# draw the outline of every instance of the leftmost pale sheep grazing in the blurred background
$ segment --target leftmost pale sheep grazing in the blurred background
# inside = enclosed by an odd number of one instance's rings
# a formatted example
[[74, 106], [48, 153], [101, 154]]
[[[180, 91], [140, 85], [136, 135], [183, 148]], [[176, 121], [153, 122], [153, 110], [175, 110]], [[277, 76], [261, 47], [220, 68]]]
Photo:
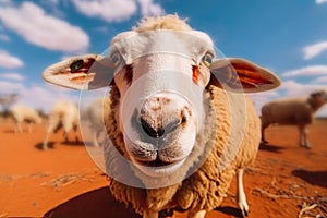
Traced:
[[28, 132], [32, 133], [32, 123], [41, 123], [41, 118], [36, 110], [28, 106], [16, 105], [11, 109], [11, 114], [16, 123], [15, 132], [22, 133], [22, 123], [28, 123]]

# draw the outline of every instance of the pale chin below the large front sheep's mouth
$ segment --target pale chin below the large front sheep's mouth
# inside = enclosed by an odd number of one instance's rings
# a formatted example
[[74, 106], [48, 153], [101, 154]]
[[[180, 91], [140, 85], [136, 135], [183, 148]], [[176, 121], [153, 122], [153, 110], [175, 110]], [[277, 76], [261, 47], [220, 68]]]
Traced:
[[186, 158], [162, 167], [147, 167], [133, 161], [133, 165], [144, 174], [152, 178], [164, 178], [175, 172], [184, 164]]

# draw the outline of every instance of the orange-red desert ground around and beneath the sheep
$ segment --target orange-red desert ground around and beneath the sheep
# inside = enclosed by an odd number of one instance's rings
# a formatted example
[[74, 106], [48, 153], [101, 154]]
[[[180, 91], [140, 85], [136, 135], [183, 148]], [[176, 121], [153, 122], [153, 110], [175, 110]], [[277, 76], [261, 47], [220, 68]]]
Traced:
[[[83, 142], [64, 143], [59, 132], [43, 150], [45, 130], [46, 122], [19, 134], [12, 121], [0, 121], [0, 218], [141, 217], [112, 198]], [[266, 137], [269, 143], [261, 145], [244, 175], [249, 217], [327, 217], [327, 120], [310, 126], [311, 149], [299, 146], [294, 126], [270, 126]], [[241, 217], [235, 181], [222, 205], [206, 217]]]

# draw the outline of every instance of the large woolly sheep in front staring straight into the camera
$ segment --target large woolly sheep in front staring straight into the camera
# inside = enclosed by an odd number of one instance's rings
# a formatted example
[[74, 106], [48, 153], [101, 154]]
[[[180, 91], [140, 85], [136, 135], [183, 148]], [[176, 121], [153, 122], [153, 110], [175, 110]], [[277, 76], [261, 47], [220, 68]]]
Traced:
[[203, 218], [221, 204], [237, 173], [238, 206], [247, 215], [243, 169], [255, 159], [261, 123], [243, 90], [279, 86], [272, 72], [218, 57], [207, 34], [166, 15], [118, 34], [108, 57], [73, 57], [43, 77], [69, 88], [110, 89], [98, 95], [110, 99], [104, 153], [118, 201], [145, 218], [165, 209]]

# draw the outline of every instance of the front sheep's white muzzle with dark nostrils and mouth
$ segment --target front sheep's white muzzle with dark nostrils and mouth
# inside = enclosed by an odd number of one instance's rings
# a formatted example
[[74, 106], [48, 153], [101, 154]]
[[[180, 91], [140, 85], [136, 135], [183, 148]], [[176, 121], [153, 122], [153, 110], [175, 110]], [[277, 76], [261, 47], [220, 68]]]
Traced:
[[185, 159], [194, 145], [196, 125], [192, 105], [182, 96], [159, 92], [136, 106], [125, 129], [133, 162], [169, 167]]

